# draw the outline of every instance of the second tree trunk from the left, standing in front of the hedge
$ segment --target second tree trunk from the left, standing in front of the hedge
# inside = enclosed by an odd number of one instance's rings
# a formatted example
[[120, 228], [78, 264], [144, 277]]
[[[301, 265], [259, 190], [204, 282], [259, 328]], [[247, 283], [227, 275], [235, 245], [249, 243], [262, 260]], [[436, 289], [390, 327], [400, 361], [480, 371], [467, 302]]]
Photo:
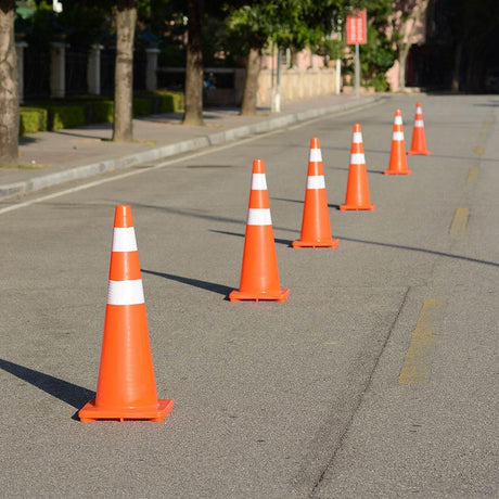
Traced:
[[133, 111], [133, 36], [137, 0], [119, 0], [116, 10], [116, 66], [113, 140], [131, 142]]

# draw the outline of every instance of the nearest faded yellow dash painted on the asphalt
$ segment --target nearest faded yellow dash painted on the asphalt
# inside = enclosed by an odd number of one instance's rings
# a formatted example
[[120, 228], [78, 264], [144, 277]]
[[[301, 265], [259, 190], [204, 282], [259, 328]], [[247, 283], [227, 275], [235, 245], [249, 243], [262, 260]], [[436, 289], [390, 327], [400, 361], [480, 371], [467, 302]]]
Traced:
[[435, 336], [447, 305], [445, 299], [425, 299], [412, 333], [398, 382], [427, 383], [432, 371]]

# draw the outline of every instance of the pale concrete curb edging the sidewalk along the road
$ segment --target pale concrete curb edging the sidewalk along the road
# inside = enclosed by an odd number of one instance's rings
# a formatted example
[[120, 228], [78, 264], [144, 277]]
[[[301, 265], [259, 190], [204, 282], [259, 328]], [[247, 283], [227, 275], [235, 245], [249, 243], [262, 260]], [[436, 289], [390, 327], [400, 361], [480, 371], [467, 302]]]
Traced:
[[42, 177], [37, 177], [23, 182], [15, 182], [0, 185], [0, 200], [7, 200], [28, 192], [39, 191], [60, 183], [69, 182], [72, 180], [93, 177], [106, 171], [130, 168], [146, 162], [154, 162], [169, 156], [175, 156], [189, 151], [195, 151], [210, 145], [222, 144], [235, 139], [242, 139], [256, 133], [265, 133], [278, 128], [284, 128], [295, 123], [306, 121], [327, 114], [334, 114], [342, 111], [354, 111], [366, 107], [382, 101], [383, 97], [364, 98], [361, 101], [349, 101], [343, 104], [335, 104], [328, 107], [316, 107], [299, 113], [277, 116], [253, 125], [245, 125], [238, 128], [232, 128], [225, 131], [212, 133], [209, 136], [197, 137], [195, 139], [184, 140], [161, 148], [154, 148], [149, 151], [142, 151], [136, 154], [129, 154], [123, 157], [104, 159], [98, 163], [92, 163], [85, 166], [69, 168], [67, 170], [57, 171]]

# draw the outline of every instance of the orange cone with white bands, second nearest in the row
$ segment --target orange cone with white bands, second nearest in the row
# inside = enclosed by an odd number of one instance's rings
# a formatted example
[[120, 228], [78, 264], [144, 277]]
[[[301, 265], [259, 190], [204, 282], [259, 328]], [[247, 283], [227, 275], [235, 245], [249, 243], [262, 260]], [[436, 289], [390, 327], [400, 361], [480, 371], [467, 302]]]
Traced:
[[239, 290], [229, 294], [229, 299], [231, 302], [243, 299], [284, 302], [289, 296], [290, 290], [281, 289], [279, 282], [278, 258], [264, 161], [255, 159], [253, 162], [241, 283]]

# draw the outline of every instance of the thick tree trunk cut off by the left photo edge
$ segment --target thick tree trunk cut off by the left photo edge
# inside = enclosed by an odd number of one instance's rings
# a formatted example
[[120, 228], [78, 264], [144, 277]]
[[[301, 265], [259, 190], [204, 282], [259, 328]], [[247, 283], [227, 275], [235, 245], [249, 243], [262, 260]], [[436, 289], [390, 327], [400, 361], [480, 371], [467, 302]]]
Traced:
[[0, 165], [17, 166], [20, 102], [14, 37], [15, 1], [0, 0]]

